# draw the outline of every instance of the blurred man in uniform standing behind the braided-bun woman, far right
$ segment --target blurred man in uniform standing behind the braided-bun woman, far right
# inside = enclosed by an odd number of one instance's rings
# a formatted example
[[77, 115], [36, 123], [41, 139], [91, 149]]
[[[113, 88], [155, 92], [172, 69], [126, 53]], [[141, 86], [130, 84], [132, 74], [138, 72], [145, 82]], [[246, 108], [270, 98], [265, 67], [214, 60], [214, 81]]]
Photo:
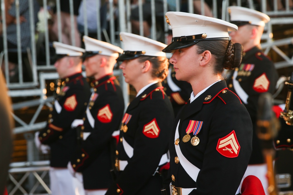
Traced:
[[227, 86], [236, 93], [245, 105], [253, 123], [252, 154], [244, 177], [255, 175], [268, 194], [267, 165], [260, 140], [256, 134], [258, 99], [260, 94], [273, 94], [278, 80], [277, 70], [273, 62], [263, 53], [260, 39], [265, 23], [270, 21], [268, 15], [253, 9], [230, 6], [230, 21], [238, 26], [238, 30], [230, 32], [231, 40], [243, 46], [243, 58], [239, 68], [227, 73]]

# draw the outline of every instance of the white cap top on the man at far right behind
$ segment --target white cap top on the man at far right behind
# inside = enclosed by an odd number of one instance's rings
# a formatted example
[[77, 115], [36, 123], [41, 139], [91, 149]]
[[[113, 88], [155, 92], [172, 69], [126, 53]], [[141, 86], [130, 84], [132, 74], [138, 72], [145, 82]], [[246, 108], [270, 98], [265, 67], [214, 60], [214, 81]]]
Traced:
[[248, 22], [251, 25], [265, 26], [270, 17], [262, 12], [240, 6], [229, 6], [230, 21]]

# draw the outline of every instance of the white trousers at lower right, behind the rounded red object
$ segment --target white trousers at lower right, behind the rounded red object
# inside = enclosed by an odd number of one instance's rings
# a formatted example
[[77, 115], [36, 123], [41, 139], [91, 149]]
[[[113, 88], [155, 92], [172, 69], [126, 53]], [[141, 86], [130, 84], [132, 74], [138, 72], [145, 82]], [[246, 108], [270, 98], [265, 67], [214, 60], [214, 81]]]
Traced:
[[257, 165], [248, 165], [246, 172], [244, 173], [244, 176], [242, 178], [242, 181], [240, 183], [240, 189], [242, 186], [242, 182], [244, 180], [245, 177], [247, 177], [248, 175], [254, 175], [255, 177], [258, 177], [258, 179], [260, 179], [261, 184], [263, 184], [263, 189], [265, 190], [265, 194], [269, 195], [268, 193], [268, 178], [267, 178], [267, 164], [257, 164]]

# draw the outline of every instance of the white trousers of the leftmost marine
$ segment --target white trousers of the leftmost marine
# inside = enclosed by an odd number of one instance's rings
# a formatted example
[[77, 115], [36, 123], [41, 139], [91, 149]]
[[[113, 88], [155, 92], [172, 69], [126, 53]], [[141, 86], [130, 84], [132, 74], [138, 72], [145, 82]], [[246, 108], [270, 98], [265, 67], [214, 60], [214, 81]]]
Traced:
[[85, 195], [84, 186], [71, 175], [67, 168], [50, 168], [52, 195]]

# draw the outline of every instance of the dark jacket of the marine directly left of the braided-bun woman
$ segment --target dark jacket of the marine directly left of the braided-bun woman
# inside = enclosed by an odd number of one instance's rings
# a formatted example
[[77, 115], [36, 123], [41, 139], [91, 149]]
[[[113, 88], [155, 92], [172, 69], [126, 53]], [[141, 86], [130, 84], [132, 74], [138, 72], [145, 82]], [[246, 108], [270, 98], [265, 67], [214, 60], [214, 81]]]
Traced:
[[[131, 115], [126, 124], [126, 132], [120, 131], [117, 145], [117, 159], [128, 161], [120, 171], [115, 183], [106, 195], [113, 194], [161, 194], [161, 176], [156, 173], [163, 154], [168, 151], [168, 139], [174, 116], [171, 102], [163, 92], [161, 83], [149, 86], [128, 106], [126, 113]], [[151, 128], [149, 124], [152, 124]], [[133, 148], [129, 158], [123, 141]]]

